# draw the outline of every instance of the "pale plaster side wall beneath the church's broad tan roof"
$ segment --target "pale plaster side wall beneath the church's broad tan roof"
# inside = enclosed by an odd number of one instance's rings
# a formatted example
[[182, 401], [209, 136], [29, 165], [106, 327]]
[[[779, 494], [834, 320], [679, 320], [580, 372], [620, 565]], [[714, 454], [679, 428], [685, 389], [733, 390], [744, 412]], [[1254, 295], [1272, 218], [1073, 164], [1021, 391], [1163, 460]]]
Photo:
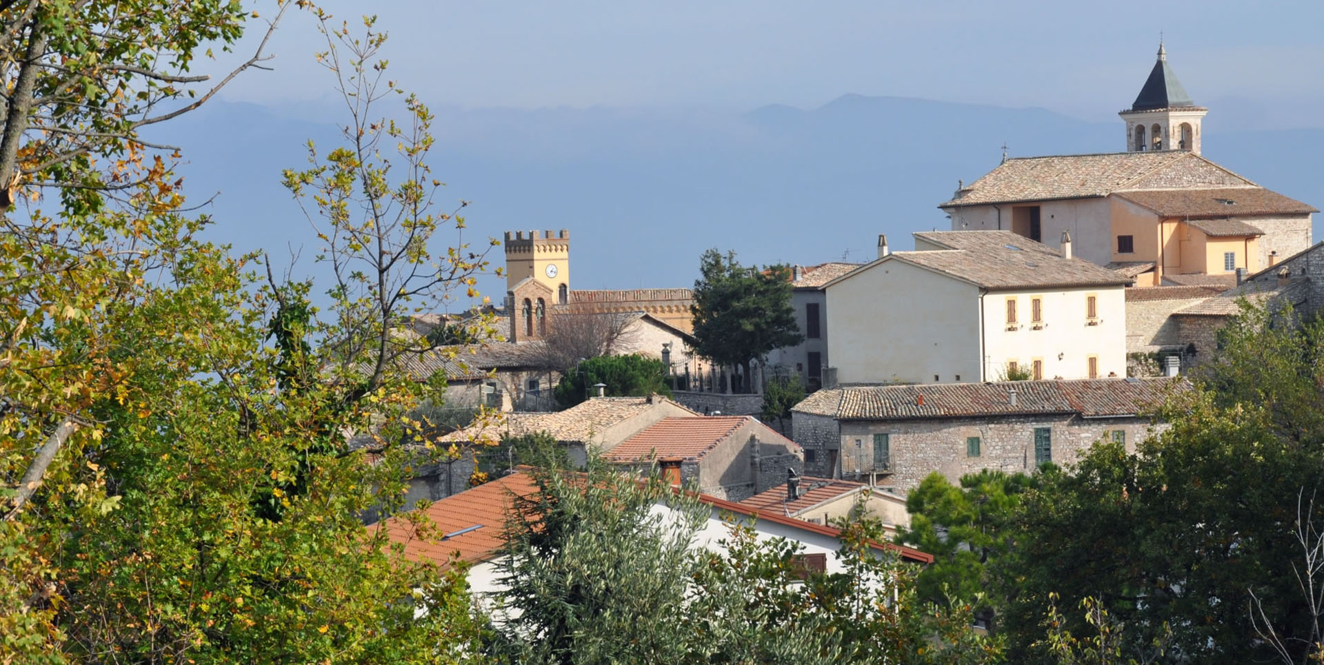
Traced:
[[1013, 225], [1013, 219], [1017, 218], [1017, 208], [1031, 205], [1039, 206], [1039, 242], [1049, 247], [1059, 247], [1062, 231], [1071, 231], [1074, 255], [1100, 266], [1112, 260], [1112, 215], [1107, 198], [970, 205], [948, 209], [948, 214], [952, 215], [953, 231], [1002, 229], [1026, 235], [1022, 229]]

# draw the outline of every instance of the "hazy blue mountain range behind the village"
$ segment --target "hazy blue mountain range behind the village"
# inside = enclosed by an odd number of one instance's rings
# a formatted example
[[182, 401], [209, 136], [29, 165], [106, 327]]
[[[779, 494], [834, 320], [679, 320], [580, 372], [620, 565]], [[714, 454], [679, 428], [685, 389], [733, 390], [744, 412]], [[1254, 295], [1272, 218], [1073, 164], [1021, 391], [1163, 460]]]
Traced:
[[[1250, 180], [1324, 204], [1324, 130], [1223, 130], [1205, 122], [1204, 153]], [[306, 140], [335, 145], [328, 104], [308, 112], [218, 102], [169, 124], [191, 200], [209, 231], [237, 250], [265, 247], [278, 263], [315, 235], [281, 171], [307, 164]], [[1090, 123], [1042, 108], [843, 95], [822, 107], [765, 106], [745, 114], [655, 108], [434, 108], [441, 201], [471, 201], [470, 239], [504, 230], [571, 229], [573, 287], [687, 287], [708, 247], [744, 262], [867, 260], [876, 234], [910, 249], [910, 233], [945, 229], [936, 208], [957, 180], [1012, 156], [1116, 152], [1120, 120]], [[1235, 124], [1253, 124], [1245, 114]], [[310, 118], [310, 119], [301, 119]], [[320, 118], [316, 120], [312, 118]], [[1316, 231], [1316, 238], [1320, 234]], [[450, 239], [442, 234], [441, 239]], [[493, 258], [500, 263], [500, 250]], [[499, 300], [500, 280], [481, 287]]]

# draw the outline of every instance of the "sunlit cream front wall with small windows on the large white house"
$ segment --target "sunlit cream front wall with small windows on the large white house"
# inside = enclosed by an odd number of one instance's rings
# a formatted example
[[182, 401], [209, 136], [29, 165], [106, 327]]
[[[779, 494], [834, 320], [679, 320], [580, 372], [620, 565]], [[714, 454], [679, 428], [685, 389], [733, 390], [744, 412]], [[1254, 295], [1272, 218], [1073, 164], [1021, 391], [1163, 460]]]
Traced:
[[[1087, 297], [1095, 296], [1096, 317], [1086, 316]], [[1017, 303], [1017, 323], [1008, 324], [1006, 303]], [[1042, 321], [1033, 321], [1033, 300], [1039, 299]], [[1059, 291], [990, 291], [984, 293], [984, 375], [1005, 378], [1008, 362], [1033, 370], [1038, 378], [1091, 378], [1090, 357], [1098, 358], [1096, 377], [1127, 375], [1127, 303], [1123, 287], [1083, 287]], [[1031, 377], [1037, 378], [1037, 377]], [[970, 379], [973, 381], [972, 375]]]

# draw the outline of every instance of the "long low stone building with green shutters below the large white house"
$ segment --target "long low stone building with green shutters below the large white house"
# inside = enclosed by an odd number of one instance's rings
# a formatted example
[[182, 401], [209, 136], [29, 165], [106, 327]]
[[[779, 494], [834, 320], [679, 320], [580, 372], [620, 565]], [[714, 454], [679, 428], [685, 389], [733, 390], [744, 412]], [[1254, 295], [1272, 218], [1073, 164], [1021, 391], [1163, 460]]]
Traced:
[[939, 472], [1029, 472], [1102, 439], [1135, 450], [1162, 424], [1147, 409], [1182, 379], [1016, 381], [820, 390], [792, 410], [806, 473], [904, 494]]

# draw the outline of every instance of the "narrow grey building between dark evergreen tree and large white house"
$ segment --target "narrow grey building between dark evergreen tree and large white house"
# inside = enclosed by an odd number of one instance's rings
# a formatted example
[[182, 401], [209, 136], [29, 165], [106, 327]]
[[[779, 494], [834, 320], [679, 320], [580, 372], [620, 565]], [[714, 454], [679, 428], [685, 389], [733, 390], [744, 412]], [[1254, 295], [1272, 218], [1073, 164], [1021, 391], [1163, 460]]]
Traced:
[[[879, 235], [879, 247], [887, 241]], [[859, 263], [820, 263], [790, 267], [790, 307], [796, 311], [796, 327], [804, 340], [794, 346], [773, 349], [768, 366], [785, 370], [804, 379], [809, 390], [822, 387], [822, 370], [830, 366], [828, 357], [828, 295], [824, 286], [858, 268]]]

